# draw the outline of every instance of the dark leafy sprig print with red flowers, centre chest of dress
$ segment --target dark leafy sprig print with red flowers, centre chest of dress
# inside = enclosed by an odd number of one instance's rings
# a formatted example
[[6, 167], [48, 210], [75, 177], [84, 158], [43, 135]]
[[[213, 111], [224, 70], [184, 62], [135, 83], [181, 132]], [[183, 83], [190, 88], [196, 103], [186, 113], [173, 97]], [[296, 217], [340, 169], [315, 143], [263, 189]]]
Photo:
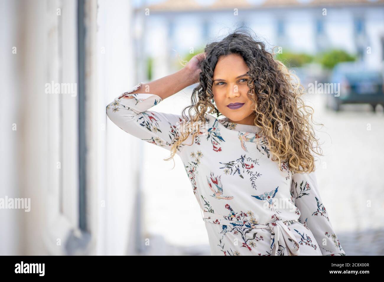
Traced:
[[224, 165], [224, 167], [220, 167], [220, 169], [224, 169], [225, 174], [237, 174], [241, 178], [244, 178], [242, 173], [247, 173], [247, 175], [250, 176], [252, 188], [256, 190], [256, 180], [258, 177], [262, 176], [261, 173], [253, 171], [255, 165], [259, 165], [258, 160], [253, 160], [250, 157], [246, 158], [245, 155], [242, 155], [237, 160], [233, 160], [228, 163], [220, 163]]

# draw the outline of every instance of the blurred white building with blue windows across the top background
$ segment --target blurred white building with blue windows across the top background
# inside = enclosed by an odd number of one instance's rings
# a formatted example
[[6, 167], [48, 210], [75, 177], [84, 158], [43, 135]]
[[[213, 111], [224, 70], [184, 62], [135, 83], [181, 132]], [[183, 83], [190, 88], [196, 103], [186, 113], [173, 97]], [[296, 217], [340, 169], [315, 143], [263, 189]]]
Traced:
[[252, 28], [269, 48], [310, 55], [343, 49], [379, 66], [384, 60], [383, 5], [382, 0], [157, 0], [137, 1], [135, 17], [146, 12], [138, 24], [145, 25], [144, 52], [154, 58], [157, 77], [164, 68], [175, 70], [177, 54], [201, 50], [238, 25]]

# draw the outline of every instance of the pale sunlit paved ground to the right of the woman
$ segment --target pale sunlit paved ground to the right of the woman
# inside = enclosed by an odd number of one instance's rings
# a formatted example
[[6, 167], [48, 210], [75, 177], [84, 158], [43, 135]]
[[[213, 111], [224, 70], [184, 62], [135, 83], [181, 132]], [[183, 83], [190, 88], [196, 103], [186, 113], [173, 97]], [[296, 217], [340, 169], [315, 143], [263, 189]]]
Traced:
[[[347, 255], [384, 255], [384, 115], [369, 105], [326, 110], [324, 95], [309, 95], [324, 157], [317, 167], [321, 196]], [[329, 135], [328, 135], [329, 134]]]

